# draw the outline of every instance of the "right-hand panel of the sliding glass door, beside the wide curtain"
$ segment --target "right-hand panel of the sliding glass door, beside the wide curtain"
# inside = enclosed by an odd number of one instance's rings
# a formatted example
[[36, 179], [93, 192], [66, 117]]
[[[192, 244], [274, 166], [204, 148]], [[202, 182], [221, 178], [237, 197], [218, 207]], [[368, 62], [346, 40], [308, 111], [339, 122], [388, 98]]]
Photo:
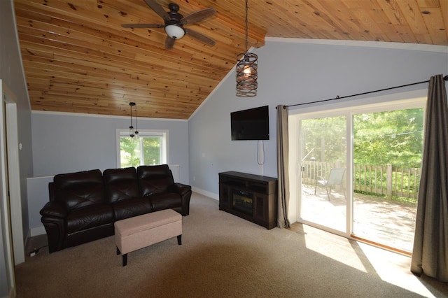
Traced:
[[411, 251], [423, 108], [353, 115], [353, 236]]

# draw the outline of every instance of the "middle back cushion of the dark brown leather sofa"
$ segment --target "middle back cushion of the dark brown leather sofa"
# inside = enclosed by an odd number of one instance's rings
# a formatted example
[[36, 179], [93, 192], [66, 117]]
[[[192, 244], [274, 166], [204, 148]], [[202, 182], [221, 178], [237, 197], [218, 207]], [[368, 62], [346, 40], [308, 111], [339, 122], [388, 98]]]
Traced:
[[134, 167], [104, 170], [103, 178], [108, 203], [139, 197], [139, 181]]

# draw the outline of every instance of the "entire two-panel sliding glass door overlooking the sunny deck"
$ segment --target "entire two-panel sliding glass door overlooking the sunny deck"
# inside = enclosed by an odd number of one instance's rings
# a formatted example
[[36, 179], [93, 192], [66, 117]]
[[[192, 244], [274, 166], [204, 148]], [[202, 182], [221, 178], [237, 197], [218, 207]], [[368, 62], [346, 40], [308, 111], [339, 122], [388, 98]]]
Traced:
[[410, 252], [423, 104], [297, 115], [298, 221]]

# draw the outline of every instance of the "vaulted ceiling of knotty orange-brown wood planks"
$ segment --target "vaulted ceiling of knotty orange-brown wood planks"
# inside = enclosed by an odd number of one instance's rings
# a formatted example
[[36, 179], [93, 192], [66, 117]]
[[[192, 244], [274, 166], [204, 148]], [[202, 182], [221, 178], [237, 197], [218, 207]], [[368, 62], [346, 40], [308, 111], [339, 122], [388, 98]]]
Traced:
[[[175, 0], [216, 17], [165, 49], [163, 23], [144, 0], [14, 0], [33, 111], [188, 119], [245, 52], [244, 0]], [[158, 0], [168, 9], [170, 0]], [[448, 0], [249, 0], [248, 46], [265, 36], [448, 45]]]

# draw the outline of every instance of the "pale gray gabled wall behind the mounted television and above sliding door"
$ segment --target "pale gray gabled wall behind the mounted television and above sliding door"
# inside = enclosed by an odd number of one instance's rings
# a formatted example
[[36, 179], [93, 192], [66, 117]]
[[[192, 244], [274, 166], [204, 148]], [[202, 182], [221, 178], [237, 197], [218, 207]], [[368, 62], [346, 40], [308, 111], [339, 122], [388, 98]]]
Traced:
[[[429, 80], [430, 76], [439, 73], [448, 74], [448, 47], [435, 47], [437, 50], [443, 48], [444, 52], [433, 52], [353, 44], [356, 46], [297, 43], [274, 38], [269, 41], [268, 38], [265, 46], [255, 51], [258, 55], [258, 94], [253, 98], [235, 96], [235, 70], [232, 70], [188, 122], [190, 183], [195, 190], [217, 198], [218, 173], [221, 171], [277, 176], [275, 107], [278, 104], [332, 99], [337, 95], [342, 97]], [[382, 94], [425, 87], [427, 84]], [[373, 96], [378, 95], [381, 93]], [[365, 103], [368, 103], [367, 99]], [[230, 140], [230, 112], [264, 105], [269, 105], [270, 139], [264, 141], [265, 164], [260, 166], [257, 162], [258, 141]], [[300, 107], [290, 108], [290, 111], [297, 113], [295, 110], [298, 109]]]

